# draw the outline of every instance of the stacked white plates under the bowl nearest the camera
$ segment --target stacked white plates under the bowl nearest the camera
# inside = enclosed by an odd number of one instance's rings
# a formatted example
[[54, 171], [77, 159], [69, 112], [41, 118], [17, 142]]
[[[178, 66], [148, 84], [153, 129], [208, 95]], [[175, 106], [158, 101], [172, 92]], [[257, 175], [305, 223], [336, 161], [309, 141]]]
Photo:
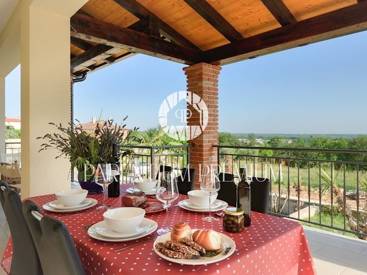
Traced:
[[94, 239], [105, 242], [127, 242], [143, 238], [153, 233], [158, 227], [158, 224], [151, 220], [144, 218], [141, 224], [133, 230], [125, 233], [113, 231], [105, 221], [100, 221], [92, 225], [88, 229], [88, 235]]

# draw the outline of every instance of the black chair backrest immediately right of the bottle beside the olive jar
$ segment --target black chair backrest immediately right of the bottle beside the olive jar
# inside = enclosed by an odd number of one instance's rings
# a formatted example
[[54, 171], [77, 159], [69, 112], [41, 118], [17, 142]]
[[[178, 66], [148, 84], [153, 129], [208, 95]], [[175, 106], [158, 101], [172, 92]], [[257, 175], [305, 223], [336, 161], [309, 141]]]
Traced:
[[251, 183], [251, 210], [268, 213], [271, 182], [269, 179], [252, 177]]

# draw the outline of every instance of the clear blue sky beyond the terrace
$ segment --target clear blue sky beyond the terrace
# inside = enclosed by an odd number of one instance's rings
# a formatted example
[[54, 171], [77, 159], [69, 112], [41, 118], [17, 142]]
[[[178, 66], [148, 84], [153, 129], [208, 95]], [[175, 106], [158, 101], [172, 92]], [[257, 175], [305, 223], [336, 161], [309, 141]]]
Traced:
[[[219, 131], [366, 134], [367, 32], [223, 66]], [[186, 90], [186, 65], [135, 55], [74, 85], [74, 117], [158, 125], [158, 110]], [[20, 117], [20, 69], [6, 78], [6, 116]], [[68, 91], [66, 91], [68, 92]], [[55, 121], [57, 122], [57, 121]]]

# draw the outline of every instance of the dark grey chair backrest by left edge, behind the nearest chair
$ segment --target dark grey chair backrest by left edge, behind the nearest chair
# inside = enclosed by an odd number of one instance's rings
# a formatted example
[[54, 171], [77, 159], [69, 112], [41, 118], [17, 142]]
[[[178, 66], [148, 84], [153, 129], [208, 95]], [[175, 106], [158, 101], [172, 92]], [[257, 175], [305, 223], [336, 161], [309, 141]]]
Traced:
[[[5, 187], [3, 183], [1, 185]], [[10, 275], [43, 274], [32, 235], [23, 216], [22, 202], [18, 193], [10, 188], [4, 190], [1, 188], [0, 193], [4, 197], [3, 208], [13, 246]]]

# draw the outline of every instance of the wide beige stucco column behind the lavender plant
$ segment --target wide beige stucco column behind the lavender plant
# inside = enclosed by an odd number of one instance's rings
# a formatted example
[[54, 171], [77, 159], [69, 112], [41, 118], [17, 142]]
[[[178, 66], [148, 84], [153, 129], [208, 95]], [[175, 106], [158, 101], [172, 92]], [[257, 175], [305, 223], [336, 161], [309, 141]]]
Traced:
[[21, 10], [22, 198], [70, 188], [70, 162], [39, 153], [37, 137], [70, 121], [70, 17], [86, 2], [33, 0]]

